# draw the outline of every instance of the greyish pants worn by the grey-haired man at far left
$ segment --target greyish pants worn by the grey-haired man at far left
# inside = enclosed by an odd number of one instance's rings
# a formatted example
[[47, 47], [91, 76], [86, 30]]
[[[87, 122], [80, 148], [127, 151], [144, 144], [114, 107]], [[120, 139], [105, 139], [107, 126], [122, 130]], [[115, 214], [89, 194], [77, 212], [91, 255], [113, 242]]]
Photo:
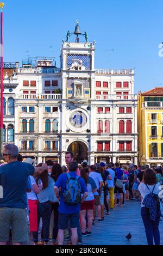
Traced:
[[0, 242], [9, 240], [12, 230], [12, 242], [21, 243], [27, 237], [27, 210], [17, 208], [0, 208]]

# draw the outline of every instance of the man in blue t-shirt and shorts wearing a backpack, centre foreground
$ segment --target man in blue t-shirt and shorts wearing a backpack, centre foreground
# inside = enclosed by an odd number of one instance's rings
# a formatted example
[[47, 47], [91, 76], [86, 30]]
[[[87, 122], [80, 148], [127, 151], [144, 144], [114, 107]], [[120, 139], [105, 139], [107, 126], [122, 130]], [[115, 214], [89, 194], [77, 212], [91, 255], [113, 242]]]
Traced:
[[[68, 165], [68, 170], [72, 178], [77, 177], [77, 169], [78, 164], [76, 162], [71, 162]], [[68, 228], [68, 220], [70, 220], [71, 225], [71, 241], [72, 245], [76, 245], [78, 241], [78, 233], [77, 233], [77, 226], [79, 222], [79, 212], [80, 212], [80, 204], [76, 205], [70, 205], [64, 202], [64, 190], [67, 182], [67, 174], [63, 173], [59, 176], [57, 182], [55, 183], [54, 191], [58, 198], [58, 201], [60, 203], [59, 205], [59, 231], [58, 231], [58, 244], [62, 245], [64, 241], [64, 229]], [[81, 192], [83, 193], [83, 197], [80, 203], [83, 203], [85, 198], [87, 197], [87, 188], [84, 179], [79, 178], [78, 179], [81, 186]], [[59, 188], [61, 188], [61, 191], [59, 193]]]

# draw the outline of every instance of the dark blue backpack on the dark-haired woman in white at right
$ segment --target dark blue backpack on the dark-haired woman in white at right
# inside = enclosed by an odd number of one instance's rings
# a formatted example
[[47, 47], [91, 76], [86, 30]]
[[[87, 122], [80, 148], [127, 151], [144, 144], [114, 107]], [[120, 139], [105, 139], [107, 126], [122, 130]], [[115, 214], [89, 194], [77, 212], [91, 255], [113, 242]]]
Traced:
[[[154, 188], [155, 188], [155, 185], [154, 185]], [[147, 186], [147, 184], [146, 184], [146, 186]], [[147, 186], [147, 188], [149, 190], [148, 186]], [[149, 209], [149, 215], [150, 215], [150, 219], [152, 221], [155, 221], [157, 211], [160, 210], [159, 196], [158, 196], [158, 194], [153, 193], [154, 188], [153, 188], [152, 192], [149, 190], [150, 193], [147, 194], [145, 196], [145, 198], [143, 199], [143, 205], [145, 205], [145, 207]]]

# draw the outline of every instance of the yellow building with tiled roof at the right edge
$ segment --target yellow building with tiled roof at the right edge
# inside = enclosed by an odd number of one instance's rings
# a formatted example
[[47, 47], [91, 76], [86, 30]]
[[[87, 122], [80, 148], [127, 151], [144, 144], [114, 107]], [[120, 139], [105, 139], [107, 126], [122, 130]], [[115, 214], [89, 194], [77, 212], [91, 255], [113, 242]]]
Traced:
[[163, 88], [138, 95], [139, 163], [163, 165]]

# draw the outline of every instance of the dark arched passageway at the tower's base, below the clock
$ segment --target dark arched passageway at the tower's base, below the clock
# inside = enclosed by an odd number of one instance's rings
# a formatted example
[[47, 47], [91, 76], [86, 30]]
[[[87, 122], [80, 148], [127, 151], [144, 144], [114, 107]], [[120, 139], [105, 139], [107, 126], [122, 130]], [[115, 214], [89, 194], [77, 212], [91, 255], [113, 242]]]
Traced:
[[72, 142], [68, 147], [68, 151], [74, 154], [74, 160], [78, 163], [82, 163], [83, 160], [88, 161], [88, 148], [84, 142]]

